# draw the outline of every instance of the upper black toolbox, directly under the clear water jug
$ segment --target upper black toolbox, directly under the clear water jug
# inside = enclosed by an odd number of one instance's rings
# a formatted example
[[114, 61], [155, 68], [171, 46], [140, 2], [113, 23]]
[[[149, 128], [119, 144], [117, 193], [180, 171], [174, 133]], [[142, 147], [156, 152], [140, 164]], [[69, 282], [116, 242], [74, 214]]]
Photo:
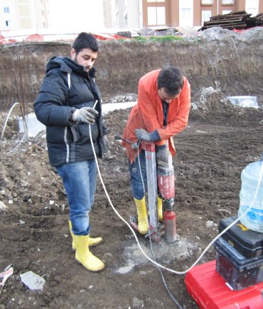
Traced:
[[[237, 216], [221, 219], [218, 225], [219, 232], [225, 230], [235, 220]], [[263, 233], [249, 230], [240, 221], [222, 234], [222, 238], [248, 259], [263, 255]]]

